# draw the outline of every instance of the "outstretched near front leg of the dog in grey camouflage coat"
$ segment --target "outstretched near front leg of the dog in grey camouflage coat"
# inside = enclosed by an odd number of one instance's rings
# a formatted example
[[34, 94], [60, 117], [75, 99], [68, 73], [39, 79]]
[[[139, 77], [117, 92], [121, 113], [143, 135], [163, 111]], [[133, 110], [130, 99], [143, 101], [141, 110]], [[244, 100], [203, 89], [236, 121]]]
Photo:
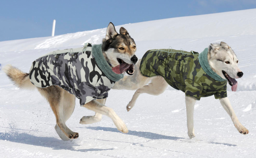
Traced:
[[101, 113], [112, 119], [117, 129], [123, 133], [128, 133], [128, 129], [123, 120], [116, 114], [116, 112], [109, 107], [106, 107], [102, 103], [97, 102], [96, 100], [90, 101], [83, 105], [83, 107], [88, 108], [89, 110]]

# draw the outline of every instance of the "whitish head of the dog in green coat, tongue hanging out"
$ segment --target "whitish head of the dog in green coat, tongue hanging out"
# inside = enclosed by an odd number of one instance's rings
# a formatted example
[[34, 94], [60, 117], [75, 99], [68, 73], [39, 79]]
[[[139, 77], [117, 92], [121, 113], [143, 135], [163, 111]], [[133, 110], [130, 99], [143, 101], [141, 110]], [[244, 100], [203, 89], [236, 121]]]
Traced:
[[242, 77], [243, 72], [238, 67], [238, 59], [231, 47], [225, 42], [211, 44], [208, 49], [208, 62], [212, 70], [227, 79], [232, 86], [232, 91], [236, 91], [237, 81], [235, 78]]

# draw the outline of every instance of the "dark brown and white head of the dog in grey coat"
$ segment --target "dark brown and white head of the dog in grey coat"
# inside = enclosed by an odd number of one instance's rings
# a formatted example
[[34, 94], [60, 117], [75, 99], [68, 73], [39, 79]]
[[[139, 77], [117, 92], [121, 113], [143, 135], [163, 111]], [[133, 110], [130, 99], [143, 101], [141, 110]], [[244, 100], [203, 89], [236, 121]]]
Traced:
[[107, 27], [106, 37], [102, 40], [102, 52], [115, 73], [133, 75], [134, 64], [138, 61], [135, 56], [136, 44], [127, 30], [120, 28], [120, 34], [110, 22]]

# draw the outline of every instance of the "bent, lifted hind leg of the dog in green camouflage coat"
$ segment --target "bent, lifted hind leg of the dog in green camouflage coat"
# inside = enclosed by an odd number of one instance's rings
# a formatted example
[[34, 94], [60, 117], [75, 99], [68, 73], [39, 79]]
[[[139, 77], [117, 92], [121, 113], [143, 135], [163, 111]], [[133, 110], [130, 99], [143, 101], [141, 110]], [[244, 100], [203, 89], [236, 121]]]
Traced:
[[147, 93], [150, 95], [160, 95], [165, 91], [166, 87], [168, 86], [168, 83], [164, 80], [162, 76], [155, 76], [151, 78], [151, 83], [135, 91], [131, 101], [126, 106], [127, 111], [130, 111], [131, 108], [134, 107], [135, 102], [140, 94]]

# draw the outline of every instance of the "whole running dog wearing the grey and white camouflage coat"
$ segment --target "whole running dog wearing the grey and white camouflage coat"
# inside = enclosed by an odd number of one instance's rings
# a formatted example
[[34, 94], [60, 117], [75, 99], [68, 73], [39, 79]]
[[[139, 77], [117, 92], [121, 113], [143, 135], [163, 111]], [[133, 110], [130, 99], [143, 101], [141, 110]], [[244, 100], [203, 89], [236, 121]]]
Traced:
[[[30, 73], [11, 65], [4, 71], [18, 87], [37, 87], [48, 100], [56, 117], [55, 130], [61, 139], [79, 136], [65, 124], [73, 113], [75, 97], [80, 99], [81, 106], [110, 117], [119, 131], [127, 133], [125, 123], [104, 104], [108, 91], [123, 78], [123, 73], [134, 73], [134, 64], [138, 61], [135, 51], [135, 42], [126, 29], [121, 27], [118, 34], [109, 23], [101, 45], [86, 43], [82, 48], [50, 52], [33, 62]], [[80, 123], [84, 120], [86, 117]]]

